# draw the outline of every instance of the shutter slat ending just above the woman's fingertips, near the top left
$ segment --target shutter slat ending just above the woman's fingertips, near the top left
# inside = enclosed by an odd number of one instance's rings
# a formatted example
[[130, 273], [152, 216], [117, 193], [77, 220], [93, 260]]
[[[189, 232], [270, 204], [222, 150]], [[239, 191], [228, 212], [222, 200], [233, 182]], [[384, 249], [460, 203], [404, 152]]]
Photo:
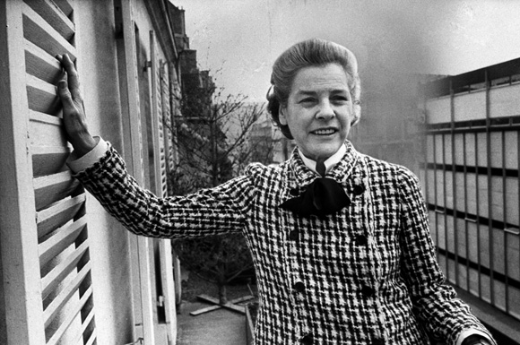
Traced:
[[23, 36], [48, 55], [67, 53], [74, 61], [76, 49], [64, 39], [52, 26], [45, 22], [28, 4], [23, 5]]

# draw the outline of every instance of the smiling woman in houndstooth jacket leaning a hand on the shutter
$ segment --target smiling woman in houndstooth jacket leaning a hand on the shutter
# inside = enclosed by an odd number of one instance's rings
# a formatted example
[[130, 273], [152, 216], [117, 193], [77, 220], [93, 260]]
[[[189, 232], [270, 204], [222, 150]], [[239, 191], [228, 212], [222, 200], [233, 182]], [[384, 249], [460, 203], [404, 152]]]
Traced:
[[360, 78], [345, 47], [310, 39], [273, 65], [268, 109], [298, 145], [290, 160], [165, 199], [91, 137], [74, 65], [57, 57], [70, 167], [111, 214], [150, 237], [244, 234], [261, 298], [256, 344], [495, 343], [445, 285], [417, 178], [346, 140], [360, 119]]

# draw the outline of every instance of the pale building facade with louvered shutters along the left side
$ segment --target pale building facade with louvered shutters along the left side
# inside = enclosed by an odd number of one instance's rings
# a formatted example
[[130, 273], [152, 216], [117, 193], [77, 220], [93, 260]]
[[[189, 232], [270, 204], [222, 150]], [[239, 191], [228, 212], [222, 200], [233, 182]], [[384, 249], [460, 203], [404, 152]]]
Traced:
[[167, 195], [183, 25], [168, 0], [0, 2], [0, 343], [176, 342], [170, 243], [123, 229], [66, 168], [54, 56], [77, 66], [91, 133]]

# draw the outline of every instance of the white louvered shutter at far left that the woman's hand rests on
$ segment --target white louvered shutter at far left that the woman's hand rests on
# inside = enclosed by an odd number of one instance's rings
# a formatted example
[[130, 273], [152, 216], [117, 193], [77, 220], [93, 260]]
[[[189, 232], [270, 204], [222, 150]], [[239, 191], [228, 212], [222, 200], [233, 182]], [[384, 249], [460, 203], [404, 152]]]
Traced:
[[2, 129], [1, 158], [3, 164], [13, 162], [2, 170], [3, 177], [13, 178], [13, 189], [1, 199], [2, 253], [13, 263], [4, 272], [13, 284], [13, 290], [4, 290], [10, 297], [7, 337], [9, 343], [30, 345], [92, 344], [96, 327], [85, 194], [65, 166], [71, 148], [55, 87], [61, 67], [54, 56], [78, 56], [74, 2], [25, 0], [2, 6], [7, 26], [0, 44], [8, 52], [2, 56], [7, 85], [0, 104], [3, 126], [9, 125]]

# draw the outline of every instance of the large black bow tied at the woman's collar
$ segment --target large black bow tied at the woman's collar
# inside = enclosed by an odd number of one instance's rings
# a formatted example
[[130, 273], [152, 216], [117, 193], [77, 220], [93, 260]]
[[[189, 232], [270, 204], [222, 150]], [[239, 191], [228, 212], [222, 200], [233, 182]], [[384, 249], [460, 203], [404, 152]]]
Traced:
[[351, 203], [342, 185], [332, 178], [318, 177], [307, 186], [305, 192], [282, 203], [280, 207], [300, 216], [311, 214], [325, 216], [340, 211]]

